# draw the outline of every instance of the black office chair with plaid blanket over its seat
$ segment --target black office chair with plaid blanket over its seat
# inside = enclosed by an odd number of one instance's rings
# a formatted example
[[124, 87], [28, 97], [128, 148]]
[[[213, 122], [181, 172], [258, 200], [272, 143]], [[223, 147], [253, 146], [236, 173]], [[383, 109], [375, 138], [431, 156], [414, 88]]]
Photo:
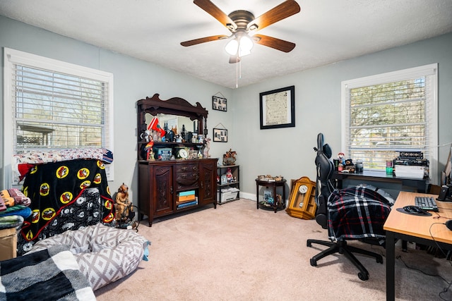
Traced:
[[[322, 228], [328, 229], [331, 241], [307, 240], [308, 247], [313, 243], [328, 247], [312, 257], [310, 264], [316, 266], [319, 259], [331, 254], [344, 254], [359, 270], [359, 279], [365, 281], [369, 279], [369, 272], [353, 253], [374, 257], [376, 262], [381, 264], [383, 257], [381, 254], [347, 245], [347, 240], [359, 239], [374, 245], [383, 245], [385, 235], [383, 223], [391, 211], [391, 203], [378, 192], [365, 187], [335, 190], [331, 183], [334, 172], [334, 165], [330, 160], [331, 148], [328, 144], [323, 144], [322, 133], [317, 136], [317, 147], [314, 147], [314, 150], [317, 152], [316, 221]], [[346, 206], [344, 202], [347, 202]], [[358, 227], [350, 226], [352, 223], [344, 225], [350, 219], [355, 223], [363, 222]]]

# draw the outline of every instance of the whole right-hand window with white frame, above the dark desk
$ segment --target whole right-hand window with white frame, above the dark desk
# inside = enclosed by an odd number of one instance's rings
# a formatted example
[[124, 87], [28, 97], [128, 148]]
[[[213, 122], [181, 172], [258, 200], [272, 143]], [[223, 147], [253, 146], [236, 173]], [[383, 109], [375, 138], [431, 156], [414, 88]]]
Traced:
[[400, 151], [421, 151], [437, 183], [436, 91], [436, 63], [342, 82], [342, 149], [376, 171]]

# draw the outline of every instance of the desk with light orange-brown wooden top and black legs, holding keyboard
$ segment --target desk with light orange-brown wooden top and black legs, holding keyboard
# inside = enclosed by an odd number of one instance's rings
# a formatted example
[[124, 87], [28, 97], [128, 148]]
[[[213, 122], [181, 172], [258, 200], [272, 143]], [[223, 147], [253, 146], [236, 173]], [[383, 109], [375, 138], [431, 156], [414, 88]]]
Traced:
[[438, 216], [435, 212], [432, 212], [431, 216], [418, 216], [397, 211], [398, 208], [415, 204], [415, 197], [418, 195], [436, 197], [436, 195], [424, 193], [400, 192], [383, 226], [386, 231], [386, 300], [395, 300], [396, 297], [396, 239], [452, 250], [452, 231], [448, 230], [446, 225], [441, 224], [452, 219], [452, 202], [436, 201], [439, 208], [438, 214], [446, 217], [445, 219], [434, 219], [435, 216]]

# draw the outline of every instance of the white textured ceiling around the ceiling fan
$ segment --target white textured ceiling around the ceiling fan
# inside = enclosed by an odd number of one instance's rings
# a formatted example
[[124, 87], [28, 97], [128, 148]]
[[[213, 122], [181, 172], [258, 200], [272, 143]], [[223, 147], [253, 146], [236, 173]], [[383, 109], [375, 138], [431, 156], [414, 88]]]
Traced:
[[[243, 9], [256, 17], [282, 2], [213, 0], [226, 14]], [[452, 0], [297, 3], [300, 13], [258, 31], [295, 49], [256, 44], [240, 64], [228, 62], [227, 40], [179, 44], [230, 34], [191, 0], [0, 0], [0, 14], [231, 88], [452, 32]]]

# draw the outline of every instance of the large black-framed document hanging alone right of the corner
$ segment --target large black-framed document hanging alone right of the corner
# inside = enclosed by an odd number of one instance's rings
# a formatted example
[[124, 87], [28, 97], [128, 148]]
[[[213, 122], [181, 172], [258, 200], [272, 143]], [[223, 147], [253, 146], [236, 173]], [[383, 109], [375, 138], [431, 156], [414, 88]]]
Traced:
[[295, 127], [295, 86], [259, 93], [261, 130]]

